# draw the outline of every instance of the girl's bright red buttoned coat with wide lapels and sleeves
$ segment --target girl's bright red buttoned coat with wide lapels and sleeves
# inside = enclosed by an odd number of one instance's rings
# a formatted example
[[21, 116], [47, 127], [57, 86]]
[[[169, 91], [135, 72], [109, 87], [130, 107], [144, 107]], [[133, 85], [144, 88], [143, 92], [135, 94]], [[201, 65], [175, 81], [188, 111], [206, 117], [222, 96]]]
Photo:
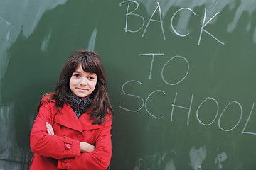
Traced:
[[[35, 153], [31, 170], [107, 169], [112, 155], [111, 116], [102, 125], [92, 125], [88, 112], [78, 119], [69, 105], [60, 111], [54, 101], [43, 103], [39, 109], [31, 132]], [[53, 126], [55, 135], [48, 135], [46, 122]], [[95, 145], [95, 150], [80, 152], [80, 141]]]

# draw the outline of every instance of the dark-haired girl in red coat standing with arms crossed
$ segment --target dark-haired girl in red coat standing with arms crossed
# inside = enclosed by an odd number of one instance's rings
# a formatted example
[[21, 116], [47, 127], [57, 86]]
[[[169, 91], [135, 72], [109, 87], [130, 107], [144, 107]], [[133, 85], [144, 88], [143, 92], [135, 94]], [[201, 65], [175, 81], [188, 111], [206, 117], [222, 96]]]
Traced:
[[107, 169], [112, 107], [100, 57], [75, 51], [55, 92], [43, 96], [31, 131], [31, 169]]

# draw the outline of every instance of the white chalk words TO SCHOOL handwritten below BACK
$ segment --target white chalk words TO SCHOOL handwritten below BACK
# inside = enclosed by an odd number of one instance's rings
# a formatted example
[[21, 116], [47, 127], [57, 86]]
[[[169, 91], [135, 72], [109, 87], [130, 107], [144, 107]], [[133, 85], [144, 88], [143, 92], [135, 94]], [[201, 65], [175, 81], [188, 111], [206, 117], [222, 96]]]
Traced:
[[[143, 56], [143, 55], [150, 55], [152, 57], [151, 59], [151, 66], [150, 66], [150, 73], [149, 73], [149, 79], [151, 79], [151, 72], [152, 72], [152, 67], [153, 67], [153, 64], [154, 64], [154, 55], [164, 55], [164, 53], [144, 53], [144, 54], [139, 54], [139, 56]], [[165, 79], [164, 79], [164, 69], [167, 67], [167, 64], [169, 62], [171, 62], [172, 60], [174, 60], [174, 58], [180, 58], [182, 59], [183, 61], [186, 62], [187, 64], [187, 68], [186, 68], [186, 75], [178, 82], [176, 83], [169, 83], [167, 82]], [[188, 75], [188, 72], [189, 72], [189, 63], [188, 63], [188, 60], [186, 60], [185, 57], [181, 57], [181, 56], [174, 56], [174, 57], [171, 57], [171, 59], [169, 59], [165, 64], [164, 66], [162, 67], [161, 69], [161, 77], [163, 79], [163, 81], [168, 84], [168, 85], [177, 85], [177, 84], [180, 84], [181, 81], [183, 81], [187, 75]], [[146, 110], [146, 113], [149, 113], [149, 115], [153, 118], [156, 118], [156, 119], [161, 119], [161, 118], [164, 118], [165, 116], [165, 113], [161, 113], [162, 115], [161, 116], [156, 116], [154, 113], [151, 113], [151, 111], [149, 111], [149, 108], [147, 106], [147, 103], [149, 101], [149, 98], [154, 98], [154, 94], [155, 93], [159, 93], [161, 92], [162, 94], [166, 94], [165, 91], [161, 90], [161, 89], [158, 89], [158, 90], [154, 90], [152, 91], [151, 93], [149, 93], [149, 95], [147, 96], [146, 98], [146, 101], [144, 100], [144, 98], [142, 98], [141, 96], [137, 96], [135, 94], [129, 94], [127, 93], [126, 91], [124, 91], [124, 86], [128, 86], [128, 84], [140, 84], [140, 85], [143, 85], [141, 81], [137, 81], [137, 80], [130, 80], [130, 81], [127, 81], [123, 84], [122, 86], [122, 92], [127, 95], [127, 96], [131, 96], [132, 98], [139, 98], [139, 103], [142, 103], [138, 109], [131, 109], [131, 108], [124, 108], [123, 106], [119, 106], [119, 108], [122, 108], [124, 111], [129, 111], [129, 112], [138, 112], [138, 111], [141, 111], [142, 108], [144, 107], [145, 110]], [[130, 85], [129, 85], [130, 86]], [[191, 116], [191, 110], [192, 108], [195, 106], [195, 104], [193, 104], [193, 98], [194, 98], [194, 93], [192, 92], [191, 94], [191, 100], [188, 102], [188, 106], [181, 106], [180, 104], [178, 104], [176, 102], [176, 98], [178, 98], [178, 92], [176, 92], [175, 96], [174, 96], [174, 101], [171, 103], [171, 122], [174, 121], [174, 115], [176, 112], [177, 109], [183, 109], [183, 110], [186, 110], [188, 111], [188, 115], [187, 115], [187, 119], [186, 119], [186, 124], [189, 125], [189, 121], [190, 121], [190, 116]], [[215, 113], [215, 116], [213, 118], [212, 121], [210, 121], [210, 123], [204, 123], [203, 120], [201, 120], [200, 116], [199, 116], [199, 113], [200, 113], [200, 109], [203, 105], [205, 105], [206, 102], [208, 101], [213, 101], [215, 103], [215, 106], [216, 106], [216, 113]], [[137, 100], [135, 100], [134, 102], [138, 102]], [[145, 103], [145, 104], [144, 104]], [[240, 117], [238, 118], [238, 121], [237, 123], [235, 123], [235, 125], [232, 125], [231, 128], [223, 128], [223, 123], [221, 123], [221, 120], [223, 118], [223, 115], [227, 112], [227, 109], [230, 108], [231, 106], [234, 106], [234, 105], [237, 105], [239, 106], [239, 112], [240, 112]], [[247, 124], [249, 123], [249, 120], [250, 120], [250, 117], [252, 115], [252, 111], [253, 111], [253, 108], [254, 108], [254, 103], [252, 105], [252, 110], [250, 111], [250, 115], [248, 116], [247, 118], [247, 121], [242, 129], [242, 134], [250, 134], [250, 135], [256, 135], [256, 132], [245, 132], [245, 128], [247, 127]], [[208, 126], [208, 125], [212, 125], [215, 120], [218, 118], [218, 113], [219, 113], [219, 103], [218, 101], [215, 99], [215, 98], [210, 98], [209, 96], [204, 99], [201, 103], [198, 104], [198, 107], [196, 108], [196, 119], [198, 120], [198, 123], [200, 123], [201, 125], [205, 125], [205, 126]], [[220, 128], [221, 130], [223, 131], [226, 131], [226, 132], [229, 132], [231, 130], [234, 130], [240, 123], [240, 121], [242, 120], [242, 115], [243, 115], [243, 111], [242, 111], [242, 106], [241, 104], [238, 102], [238, 101], [230, 101], [230, 103], [228, 103], [225, 108], [223, 109], [223, 111], [220, 113], [220, 116], [218, 118], [218, 128]]]

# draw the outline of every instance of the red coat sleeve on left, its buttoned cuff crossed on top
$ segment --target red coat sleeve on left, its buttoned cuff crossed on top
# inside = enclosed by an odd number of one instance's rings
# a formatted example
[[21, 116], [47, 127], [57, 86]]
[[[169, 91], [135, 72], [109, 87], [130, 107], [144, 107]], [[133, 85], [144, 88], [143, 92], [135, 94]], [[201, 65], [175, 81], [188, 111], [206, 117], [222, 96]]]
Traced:
[[80, 142], [78, 140], [57, 135], [52, 136], [46, 132], [46, 122], [52, 122], [53, 105], [53, 102], [48, 101], [39, 108], [31, 131], [31, 150], [36, 154], [55, 159], [78, 157], [80, 155]]

